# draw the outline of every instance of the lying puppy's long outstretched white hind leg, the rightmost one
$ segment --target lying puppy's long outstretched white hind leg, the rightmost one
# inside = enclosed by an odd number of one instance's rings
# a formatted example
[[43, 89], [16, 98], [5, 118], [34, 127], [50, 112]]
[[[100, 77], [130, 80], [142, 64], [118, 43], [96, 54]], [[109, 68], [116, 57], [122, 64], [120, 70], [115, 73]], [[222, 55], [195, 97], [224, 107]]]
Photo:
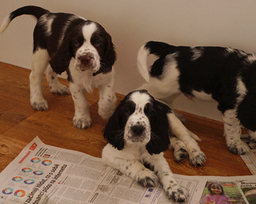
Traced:
[[[169, 124], [171, 126], [171, 132], [178, 139], [184, 142], [186, 150], [188, 151], [189, 160], [195, 167], [201, 166], [205, 163], [205, 154], [200, 150], [195, 139], [191, 137], [191, 132], [186, 129], [184, 124], [175, 116], [175, 114], [167, 114]], [[195, 134], [194, 134], [195, 135]]]

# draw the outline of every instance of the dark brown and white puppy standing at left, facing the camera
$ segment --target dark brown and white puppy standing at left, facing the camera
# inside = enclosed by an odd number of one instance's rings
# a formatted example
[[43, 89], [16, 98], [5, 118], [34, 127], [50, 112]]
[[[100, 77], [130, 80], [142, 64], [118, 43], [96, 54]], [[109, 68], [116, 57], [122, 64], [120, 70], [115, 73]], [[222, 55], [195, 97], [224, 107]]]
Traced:
[[33, 32], [32, 71], [29, 76], [32, 107], [48, 109], [42, 95], [44, 71], [51, 92], [56, 95], [69, 92], [57, 79], [57, 73], [67, 71], [75, 107], [74, 126], [79, 129], [91, 126], [84, 90], [92, 92], [95, 87], [100, 92], [98, 113], [102, 118], [109, 118], [116, 101], [112, 68], [116, 54], [109, 33], [97, 22], [74, 14], [51, 13], [35, 6], [20, 7], [10, 13], [3, 20], [0, 32], [14, 18], [23, 14], [35, 16], [38, 20]]

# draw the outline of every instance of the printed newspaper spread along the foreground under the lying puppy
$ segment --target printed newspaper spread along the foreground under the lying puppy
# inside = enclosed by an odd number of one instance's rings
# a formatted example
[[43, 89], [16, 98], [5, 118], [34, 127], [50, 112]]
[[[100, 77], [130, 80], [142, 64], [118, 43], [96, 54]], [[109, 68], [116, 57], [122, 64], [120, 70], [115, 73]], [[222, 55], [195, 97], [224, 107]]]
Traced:
[[[221, 184], [223, 198], [240, 203], [256, 199], [256, 177], [206, 177], [175, 175], [188, 188], [185, 203], [209, 201], [208, 184]], [[101, 158], [48, 146], [35, 137], [0, 173], [0, 204], [175, 203], [162, 186], [139, 186], [130, 177], [102, 163]], [[215, 201], [216, 203], [216, 201]], [[217, 203], [216, 203], [217, 204]]]

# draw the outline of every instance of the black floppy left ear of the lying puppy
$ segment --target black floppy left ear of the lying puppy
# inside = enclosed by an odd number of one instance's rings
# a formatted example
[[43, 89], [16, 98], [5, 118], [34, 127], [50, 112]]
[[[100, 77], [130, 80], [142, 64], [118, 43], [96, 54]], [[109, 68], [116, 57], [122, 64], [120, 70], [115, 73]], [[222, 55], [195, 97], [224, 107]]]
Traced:
[[119, 105], [104, 129], [106, 139], [117, 150], [124, 149], [124, 126], [122, 125], [121, 105]]

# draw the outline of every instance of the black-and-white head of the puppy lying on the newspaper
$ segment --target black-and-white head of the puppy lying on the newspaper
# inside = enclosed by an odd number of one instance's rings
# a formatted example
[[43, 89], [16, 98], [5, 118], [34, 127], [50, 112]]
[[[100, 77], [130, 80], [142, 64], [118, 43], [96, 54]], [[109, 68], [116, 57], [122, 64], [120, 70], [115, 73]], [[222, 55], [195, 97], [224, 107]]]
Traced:
[[146, 90], [130, 92], [106, 124], [104, 138], [118, 150], [126, 143], [139, 143], [150, 154], [159, 154], [170, 144], [168, 112], [171, 109]]

